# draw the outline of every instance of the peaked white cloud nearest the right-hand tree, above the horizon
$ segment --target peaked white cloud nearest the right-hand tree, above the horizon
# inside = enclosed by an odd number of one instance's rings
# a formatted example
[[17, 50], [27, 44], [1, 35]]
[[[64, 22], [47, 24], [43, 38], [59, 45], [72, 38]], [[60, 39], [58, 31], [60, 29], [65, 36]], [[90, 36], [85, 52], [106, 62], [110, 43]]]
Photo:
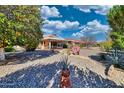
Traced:
[[80, 29], [79, 32], [73, 33], [72, 36], [82, 37], [85, 35], [97, 35], [100, 33], [105, 34], [110, 30], [108, 25], [103, 25], [98, 20], [88, 22], [86, 25], [81, 26]]

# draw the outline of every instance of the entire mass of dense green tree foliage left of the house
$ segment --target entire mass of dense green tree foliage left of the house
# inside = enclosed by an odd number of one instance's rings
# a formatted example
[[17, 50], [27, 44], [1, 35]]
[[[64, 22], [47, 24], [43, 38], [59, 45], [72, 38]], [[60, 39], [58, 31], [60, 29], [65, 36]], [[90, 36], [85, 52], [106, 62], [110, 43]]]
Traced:
[[40, 7], [0, 6], [0, 26], [1, 47], [20, 45], [34, 50], [42, 38]]

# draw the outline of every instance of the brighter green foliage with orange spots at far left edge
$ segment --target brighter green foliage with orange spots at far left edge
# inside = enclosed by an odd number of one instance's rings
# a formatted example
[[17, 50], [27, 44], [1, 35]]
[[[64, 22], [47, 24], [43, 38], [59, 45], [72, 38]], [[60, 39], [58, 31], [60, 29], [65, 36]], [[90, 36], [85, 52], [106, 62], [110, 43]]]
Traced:
[[14, 40], [14, 33], [11, 30], [10, 23], [6, 15], [0, 13], [0, 48], [12, 44]]

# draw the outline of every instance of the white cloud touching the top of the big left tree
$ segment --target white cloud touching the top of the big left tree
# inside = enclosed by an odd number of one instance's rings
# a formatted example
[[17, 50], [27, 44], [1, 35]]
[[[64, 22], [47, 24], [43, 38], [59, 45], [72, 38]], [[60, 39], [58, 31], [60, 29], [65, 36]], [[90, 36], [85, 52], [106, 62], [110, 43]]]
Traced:
[[42, 18], [44, 19], [47, 19], [49, 17], [61, 17], [56, 7], [48, 7], [48, 6], [41, 7], [41, 15], [42, 15]]

